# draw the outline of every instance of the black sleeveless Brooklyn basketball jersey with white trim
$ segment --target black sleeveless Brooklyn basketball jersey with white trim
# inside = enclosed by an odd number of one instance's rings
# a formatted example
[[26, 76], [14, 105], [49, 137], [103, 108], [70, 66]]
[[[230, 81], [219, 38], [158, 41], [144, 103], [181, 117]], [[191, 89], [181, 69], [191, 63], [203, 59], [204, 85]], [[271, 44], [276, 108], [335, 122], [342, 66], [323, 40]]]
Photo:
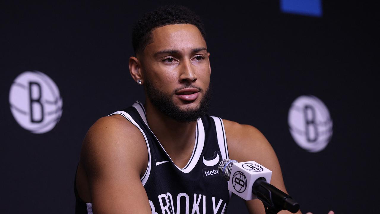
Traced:
[[[122, 115], [135, 125], [145, 138], [149, 159], [142, 185], [152, 214], [222, 214], [231, 193], [228, 182], [219, 174], [220, 161], [228, 157], [222, 119], [199, 118], [192, 156], [184, 168], [176, 166], [150, 130], [145, 109], [138, 101], [131, 107], [112, 113]], [[76, 193], [76, 213], [92, 214], [92, 204]]]

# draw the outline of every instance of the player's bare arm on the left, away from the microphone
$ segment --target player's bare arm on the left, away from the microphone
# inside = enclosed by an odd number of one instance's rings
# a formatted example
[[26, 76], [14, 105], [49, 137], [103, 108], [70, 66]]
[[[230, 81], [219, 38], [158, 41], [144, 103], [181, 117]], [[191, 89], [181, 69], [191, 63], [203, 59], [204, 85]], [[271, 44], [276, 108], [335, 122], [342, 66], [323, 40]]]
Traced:
[[81, 151], [94, 213], [152, 213], [140, 176], [147, 146], [136, 126], [120, 115], [100, 118]]

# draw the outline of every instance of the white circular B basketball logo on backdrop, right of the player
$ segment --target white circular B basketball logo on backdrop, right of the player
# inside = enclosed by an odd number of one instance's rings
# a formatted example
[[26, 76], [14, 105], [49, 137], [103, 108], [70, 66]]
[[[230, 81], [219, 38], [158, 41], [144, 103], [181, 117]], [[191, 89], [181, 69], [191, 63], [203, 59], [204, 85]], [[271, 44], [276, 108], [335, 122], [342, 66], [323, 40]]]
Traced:
[[315, 96], [300, 96], [288, 114], [290, 134], [309, 152], [325, 149], [332, 136], [332, 120], [326, 105]]

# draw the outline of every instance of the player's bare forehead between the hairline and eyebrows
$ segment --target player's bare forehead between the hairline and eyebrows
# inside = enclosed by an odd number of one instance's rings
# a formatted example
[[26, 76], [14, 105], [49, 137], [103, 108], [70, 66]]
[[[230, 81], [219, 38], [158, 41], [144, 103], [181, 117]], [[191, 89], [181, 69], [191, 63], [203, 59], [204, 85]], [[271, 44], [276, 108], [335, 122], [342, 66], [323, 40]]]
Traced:
[[206, 48], [206, 41], [201, 32], [192, 24], [171, 24], [158, 27], [152, 31], [152, 40], [153, 42], [146, 46], [144, 52]]

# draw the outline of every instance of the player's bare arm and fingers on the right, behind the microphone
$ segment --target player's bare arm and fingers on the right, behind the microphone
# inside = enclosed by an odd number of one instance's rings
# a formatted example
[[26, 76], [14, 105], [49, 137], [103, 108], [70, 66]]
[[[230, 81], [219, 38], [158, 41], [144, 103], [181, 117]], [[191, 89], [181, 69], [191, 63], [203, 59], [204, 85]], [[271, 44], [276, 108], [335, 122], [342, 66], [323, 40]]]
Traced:
[[[271, 184], [287, 193], [282, 179], [282, 173], [277, 156], [263, 136], [256, 128], [249, 125], [240, 125], [233, 121], [223, 120], [228, 152], [230, 158], [242, 161], [256, 161], [272, 171]], [[251, 214], [264, 214], [264, 206], [260, 200], [246, 201], [247, 208]], [[291, 214], [281, 211], [280, 214]], [[301, 214], [301, 211], [297, 212]]]

